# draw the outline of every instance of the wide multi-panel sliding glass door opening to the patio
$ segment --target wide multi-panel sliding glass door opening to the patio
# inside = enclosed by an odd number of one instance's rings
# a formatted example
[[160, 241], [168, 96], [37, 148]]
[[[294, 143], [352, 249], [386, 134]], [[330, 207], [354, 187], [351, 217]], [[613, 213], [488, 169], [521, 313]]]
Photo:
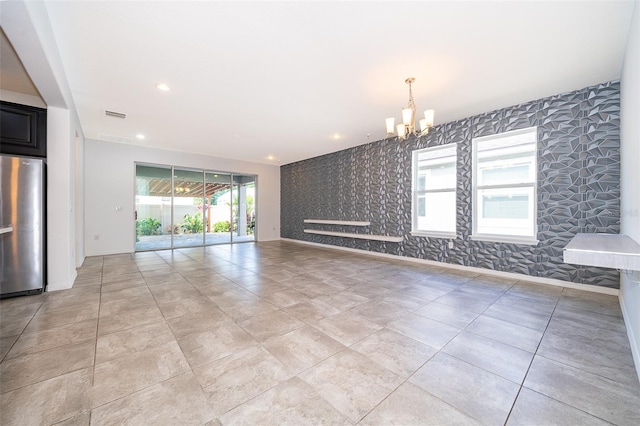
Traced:
[[136, 164], [136, 251], [255, 241], [256, 178]]

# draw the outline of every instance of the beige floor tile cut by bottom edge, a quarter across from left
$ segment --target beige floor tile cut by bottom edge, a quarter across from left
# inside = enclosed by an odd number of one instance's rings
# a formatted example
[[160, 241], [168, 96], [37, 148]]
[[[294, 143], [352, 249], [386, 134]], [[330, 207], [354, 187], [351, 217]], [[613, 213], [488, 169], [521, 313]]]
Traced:
[[215, 417], [192, 372], [93, 410], [91, 425], [203, 425]]

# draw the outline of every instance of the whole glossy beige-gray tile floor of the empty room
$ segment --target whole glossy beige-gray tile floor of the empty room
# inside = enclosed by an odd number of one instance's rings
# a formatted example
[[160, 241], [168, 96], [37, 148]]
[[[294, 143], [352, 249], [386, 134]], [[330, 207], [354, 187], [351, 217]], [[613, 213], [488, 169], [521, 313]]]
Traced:
[[2, 425], [640, 424], [618, 300], [277, 241], [0, 301]]

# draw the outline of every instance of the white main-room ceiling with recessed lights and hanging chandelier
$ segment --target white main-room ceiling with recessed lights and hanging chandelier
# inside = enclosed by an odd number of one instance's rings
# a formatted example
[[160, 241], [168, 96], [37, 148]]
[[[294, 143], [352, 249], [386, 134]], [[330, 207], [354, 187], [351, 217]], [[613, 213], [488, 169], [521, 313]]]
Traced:
[[46, 6], [85, 137], [279, 165], [384, 138], [406, 77], [436, 125], [618, 79], [633, 4]]

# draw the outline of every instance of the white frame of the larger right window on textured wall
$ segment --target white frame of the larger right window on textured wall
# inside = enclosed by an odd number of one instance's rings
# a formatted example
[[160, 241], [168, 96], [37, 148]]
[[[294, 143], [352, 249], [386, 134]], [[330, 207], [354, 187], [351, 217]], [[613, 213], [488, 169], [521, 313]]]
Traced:
[[[478, 145], [482, 142], [486, 142], [489, 140], [496, 141], [499, 139], [507, 139], [512, 138], [518, 135], [524, 134], [533, 134], [534, 141], [531, 143], [534, 145], [533, 149], [533, 179], [530, 182], [517, 182], [517, 183], [504, 183], [504, 184], [490, 184], [490, 185], [478, 185], [478, 174], [479, 174], [479, 162], [478, 162]], [[478, 241], [491, 241], [491, 242], [503, 242], [503, 243], [514, 243], [514, 244], [527, 244], [527, 245], [537, 245], [538, 240], [538, 127], [527, 127], [524, 129], [512, 130], [503, 133], [497, 133], [489, 136], [482, 136], [473, 138], [471, 141], [472, 145], [472, 234], [470, 238], [472, 240]], [[479, 223], [479, 214], [481, 212], [480, 209], [480, 191], [482, 190], [491, 190], [491, 189], [530, 189], [531, 190], [531, 200], [528, 208], [531, 209], [532, 214], [532, 228], [530, 235], [508, 235], [508, 234], [491, 234], [491, 233], [480, 233], [478, 232], [478, 223]]]

